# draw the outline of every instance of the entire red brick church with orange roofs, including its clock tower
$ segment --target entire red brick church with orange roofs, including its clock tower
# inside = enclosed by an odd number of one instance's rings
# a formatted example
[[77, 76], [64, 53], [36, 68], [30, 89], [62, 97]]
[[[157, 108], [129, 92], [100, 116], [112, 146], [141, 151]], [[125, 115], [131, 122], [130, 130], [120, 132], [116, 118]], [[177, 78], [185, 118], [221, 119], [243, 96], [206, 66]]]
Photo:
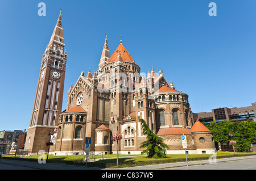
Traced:
[[[213, 154], [212, 132], [199, 121], [193, 123], [188, 95], [177, 91], [163, 71], [148, 73], [124, 47], [122, 39], [110, 53], [107, 36], [98, 68], [81, 72], [71, 85], [67, 109], [61, 110], [67, 52], [64, 50], [61, 13], [40, 66], [34, 107], [27, 131], [25, 149], [31, 154], [48, 150], [55, 155], [84, 154], [85, 137], [91, 137], [94, 154], [116, 153], [111, 136], [122, 134], [119, 153], [141, 154], [142, 134], [139, 119], [162, 137], [167, 154], [184, 153], [181, 136], [187, 136], [189, 154]], [[146, 52], [145, 52], [146, 53]], [[76, 82], [75, 82], [76, 81]]]

